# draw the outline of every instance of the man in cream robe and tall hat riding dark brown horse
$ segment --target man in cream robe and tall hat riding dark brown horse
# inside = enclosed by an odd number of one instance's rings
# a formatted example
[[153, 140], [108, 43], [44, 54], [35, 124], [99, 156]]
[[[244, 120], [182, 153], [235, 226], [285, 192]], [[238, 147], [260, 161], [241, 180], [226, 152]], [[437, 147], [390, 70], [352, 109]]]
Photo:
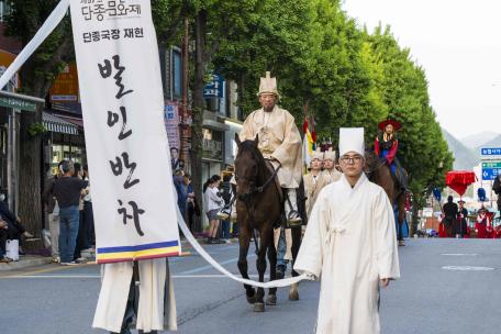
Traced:
[[[241, 134], [235, 138], [238, 153], [233, 180], [236, 182], [236, 200], [233, 201], [235, 205], [232, 211], [237, 211], [241, 229], [238, 270], [242, 277], [248, 278], [246, 256], [250, 236], [254, 235], [256, 266], [259, 281], [263, 281], [266, 254], [270, 264], [270, 280], [283, 277], [283, 272], [278, 275], [277, 264], [285, 265], [286, 260], [293, 260], [298, 254], [301, 229], [283, 229], [279, 225], [285, 213], [289, 227], [300, 226], [303, 221], [300, 212], [303, 214], [304, 208], [301, 192], [301, 196], [297, 194], [297, 189], [302, 186], [301, 136], [294, 118], [276, 105], [280, 96], [277, 79], [271, 78], [269, 73], [260, 79], [258, 97], [263, 108], [247, 116]], [[301, 199], [300, 211], [298, 198]], [[227, 212], [222, 214], [227, 215]], [[294, 275], [297, 272], [292, 271]], [[255, 311], [263, 312], [264, 289], [258, 288], [255, 292], [250, 286], [244, 287], [247, 301], [254, 304]], [[269, 290], [266, 304], [276, 304], [276, 290]], [[291, 286], [289, 299], [299, 299], [297, 283]]]

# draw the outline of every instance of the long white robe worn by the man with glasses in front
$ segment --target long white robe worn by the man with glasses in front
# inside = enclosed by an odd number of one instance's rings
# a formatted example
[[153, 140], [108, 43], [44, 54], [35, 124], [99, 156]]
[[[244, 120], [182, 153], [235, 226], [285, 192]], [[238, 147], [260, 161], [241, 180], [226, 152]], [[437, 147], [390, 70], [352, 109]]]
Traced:
[[318, 334], [375, 334], [379, 279], [400, 277], [393, 211], [363, 174], [326, 186], [313, 207], [294, 269], [321, 280]]

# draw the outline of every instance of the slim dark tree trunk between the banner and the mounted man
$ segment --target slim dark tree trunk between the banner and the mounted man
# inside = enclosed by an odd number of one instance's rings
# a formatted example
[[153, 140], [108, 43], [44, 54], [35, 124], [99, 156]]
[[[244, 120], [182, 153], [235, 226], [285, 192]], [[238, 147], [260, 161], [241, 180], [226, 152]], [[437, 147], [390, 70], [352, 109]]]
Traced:
[[[194, 84], [193, 84], [193, 123], [191, 131], [191, 175], [194, 196], [202, 204], [202, 123], [203, 123], [203, 87], [205, 77], [205, 31], [207, 13], [200, 11], [194, 19], [196, 56], [194, 56]], [[203, 210], [202, 210], [203, 214]], [[203, 218], [197, 222], [196, 230], [202, 231]]]

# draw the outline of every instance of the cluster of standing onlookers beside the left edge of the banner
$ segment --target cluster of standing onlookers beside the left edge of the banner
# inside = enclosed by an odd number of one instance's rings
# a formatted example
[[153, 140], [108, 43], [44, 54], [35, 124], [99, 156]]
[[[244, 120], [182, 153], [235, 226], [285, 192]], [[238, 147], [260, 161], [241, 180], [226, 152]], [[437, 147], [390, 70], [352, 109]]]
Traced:
[[59, 163], [42, 196], [48, 213], [51, 250], [54, 263], [77, 265], [84, 252], [96, 247], [92, 198], [87, 166], [70, 160]]

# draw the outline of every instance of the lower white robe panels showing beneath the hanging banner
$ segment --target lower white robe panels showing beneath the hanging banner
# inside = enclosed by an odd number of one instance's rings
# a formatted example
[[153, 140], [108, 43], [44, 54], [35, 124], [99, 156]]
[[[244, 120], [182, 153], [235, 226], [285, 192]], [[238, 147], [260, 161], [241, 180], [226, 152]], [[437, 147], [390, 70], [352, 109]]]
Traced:
[[[132, 263], [102, 265], [101, 274], [101, 292], [92, 327], [120, 333], [131, 288]], [[176, 300], [166, 259], [141, 260], [140, 280], [136, 329], [176, 331]], [[165, 293], [168, 293], [166, 298]]]

